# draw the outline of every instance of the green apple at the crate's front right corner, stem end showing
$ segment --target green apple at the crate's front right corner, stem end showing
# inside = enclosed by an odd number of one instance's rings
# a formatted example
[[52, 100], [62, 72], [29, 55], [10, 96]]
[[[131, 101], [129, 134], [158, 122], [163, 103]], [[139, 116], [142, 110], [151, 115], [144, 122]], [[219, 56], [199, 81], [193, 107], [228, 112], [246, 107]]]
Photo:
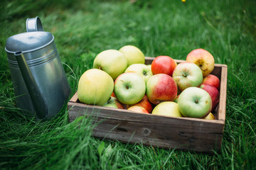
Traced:
[[211, 109], [210, 95], [201, 88], [188, 87], [178, 97], [178, 110], [184, 117], [204, 118]]

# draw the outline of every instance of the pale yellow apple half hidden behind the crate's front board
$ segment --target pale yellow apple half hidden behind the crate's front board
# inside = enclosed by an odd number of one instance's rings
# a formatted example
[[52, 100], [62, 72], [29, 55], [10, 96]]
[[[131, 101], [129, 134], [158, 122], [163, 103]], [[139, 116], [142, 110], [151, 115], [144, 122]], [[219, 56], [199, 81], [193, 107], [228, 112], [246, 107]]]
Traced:
[[159, 103], [154, 107], [152, 115], [165, 115], [177, 118], [183, 117], [178, 110], [178, 104], [174, 101], [164, 101]]

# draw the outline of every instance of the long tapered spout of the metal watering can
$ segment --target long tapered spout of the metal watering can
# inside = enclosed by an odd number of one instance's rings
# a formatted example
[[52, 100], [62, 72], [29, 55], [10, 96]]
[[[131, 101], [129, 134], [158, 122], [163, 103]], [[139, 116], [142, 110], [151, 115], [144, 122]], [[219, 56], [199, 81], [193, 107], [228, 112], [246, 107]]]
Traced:
[[21, 74], [23, 80], [28, 89], [29, 96], [31, 96], [31, 101], [33, 103], [33, 107], [35, 108], [36, 115], [38, 118], [45, 118], [48, 115], [48, 106], [46, 103], [46, 98], [41, 92], [36, 84], [36, 81], [31, 73], [31, 70], [28, 67], [28, 63], [26, 62], [25, 57], [23, 56], [22, 51], [17, 51], [14, 53], [16, 60], [18, 62], [18, 67], [21, 70]]

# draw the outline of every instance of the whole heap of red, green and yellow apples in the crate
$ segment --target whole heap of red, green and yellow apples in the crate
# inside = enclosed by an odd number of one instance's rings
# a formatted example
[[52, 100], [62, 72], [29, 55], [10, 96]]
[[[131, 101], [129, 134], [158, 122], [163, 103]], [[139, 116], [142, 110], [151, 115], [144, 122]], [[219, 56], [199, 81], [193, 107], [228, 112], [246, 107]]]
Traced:
[[172, 117], [215, 119], [220, 80], [213, 74], [214, 58], [192, 50], [186, 62], [155, 57], [149, 65], [139, 48], [125, 45], [100, 52], [78, 82], [82, 103]]

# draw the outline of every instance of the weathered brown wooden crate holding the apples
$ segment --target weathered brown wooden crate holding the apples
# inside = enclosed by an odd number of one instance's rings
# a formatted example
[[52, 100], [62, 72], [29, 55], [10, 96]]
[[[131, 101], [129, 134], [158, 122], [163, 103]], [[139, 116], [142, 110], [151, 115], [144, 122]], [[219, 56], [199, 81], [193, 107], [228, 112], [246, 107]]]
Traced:
[[[151, 64], [153, 60], [153, 57], [146, 57], [145, 64]], [[216, 120], [170, 118], [92, 106], [80, 103], [78, 95], [75, 94], [68, 102], [69, 121], [72, 122], [82, 115], [90, 115], [97, 123], [93, 130], [95, 137], [166, 149], [211, 153], [220, 149], [223, 139], [228, 67], [225, 64], [215, 64], [211, 74], [220, 79], [220, 102], [213, 112]]]

